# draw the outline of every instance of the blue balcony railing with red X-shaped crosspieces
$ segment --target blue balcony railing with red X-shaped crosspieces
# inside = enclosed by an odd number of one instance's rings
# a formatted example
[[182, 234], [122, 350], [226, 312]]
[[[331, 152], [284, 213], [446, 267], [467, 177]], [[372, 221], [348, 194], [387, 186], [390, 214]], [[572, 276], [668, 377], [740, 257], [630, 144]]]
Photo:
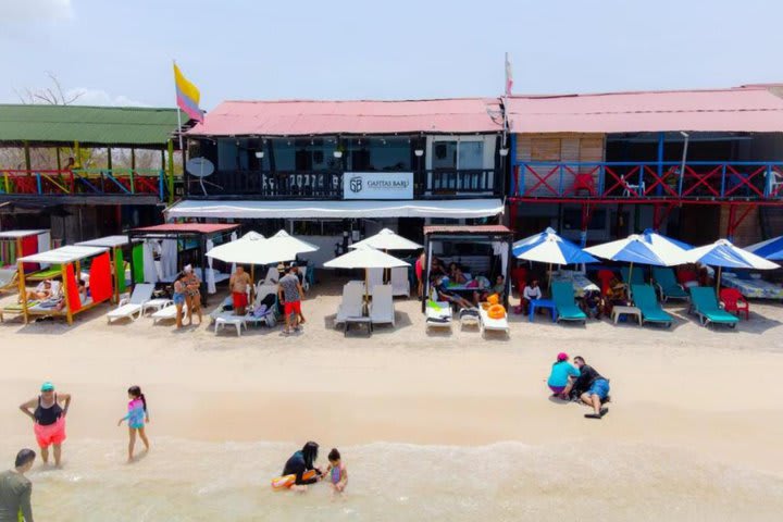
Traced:
[[511, 196], [618, 200], [783, 199], [783, 162], [518, 162]]

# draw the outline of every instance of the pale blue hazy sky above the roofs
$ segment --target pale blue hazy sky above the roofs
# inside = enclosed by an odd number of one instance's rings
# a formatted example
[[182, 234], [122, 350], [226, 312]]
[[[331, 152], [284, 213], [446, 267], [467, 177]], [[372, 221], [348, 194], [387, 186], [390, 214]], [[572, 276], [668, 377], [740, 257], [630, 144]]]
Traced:
[[498, 96], [783, 82], [778, 0], [0, 0], [0, 102]]

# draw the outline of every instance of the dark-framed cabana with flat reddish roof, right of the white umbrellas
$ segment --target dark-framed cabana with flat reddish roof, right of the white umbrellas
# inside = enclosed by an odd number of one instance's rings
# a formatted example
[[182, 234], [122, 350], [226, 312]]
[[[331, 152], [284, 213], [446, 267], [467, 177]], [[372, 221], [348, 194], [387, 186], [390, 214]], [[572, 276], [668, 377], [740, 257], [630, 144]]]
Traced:
[[[430, 295], [430, 269], [434, 256], [445, 257], [455, 262], [464, 262], [465, 259], [476, 259], [481, 256], [488, 257], [489, 262], [485, 264], [487, 276], [490, 276], [493, 269], [499, 270], [506, 281], [504, 306], [508, 309], [508, 298], [511, 291], [511, 281], [508, 276], [509, 259], [511, 259], [511, 246], [513, 234], [504, 225], [476, 225], [476, 226], [425, 226], [424, 227], [424, 252], [426, 265], [424, 266], [424, 296], [422, 300], [422, 312], [426, 309], [426, 296]], [[460, 244], [484, 245], [485, 253], [465, 254], [464, 250], [457, 248]], [[447, 248], [452, 248], [449, 254]], [[477, 275], [477, 274], [473, 274]], [[497, 275], [497, 274], [496, 274]], [[472, 288], [455, 288], [456, 291], [469, 290]]]

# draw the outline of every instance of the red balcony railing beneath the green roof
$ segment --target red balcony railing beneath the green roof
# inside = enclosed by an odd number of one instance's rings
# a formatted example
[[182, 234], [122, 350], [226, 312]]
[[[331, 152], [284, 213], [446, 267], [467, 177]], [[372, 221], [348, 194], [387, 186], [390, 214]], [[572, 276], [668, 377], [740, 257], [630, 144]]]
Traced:
[[158, 169], [0, 170], [0, 195], [156, 196], [165, 199], [165, 173]]

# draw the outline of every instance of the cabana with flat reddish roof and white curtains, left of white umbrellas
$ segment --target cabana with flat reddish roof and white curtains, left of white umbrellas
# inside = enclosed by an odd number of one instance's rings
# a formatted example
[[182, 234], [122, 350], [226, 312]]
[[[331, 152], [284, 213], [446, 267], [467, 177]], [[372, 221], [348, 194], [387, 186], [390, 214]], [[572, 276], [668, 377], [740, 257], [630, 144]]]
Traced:
[[[135, 240], [148, 240], [148, 239], [174, 239], [178, 244], [178, 250], [197, 250], [197, 260], [200, 266], [194, 266], [194, 271], [201, 279], [202, 286], [207, 284], [207, 266], [209, 266], [209, 260], [207, 259], [207, 241], [214, 240], [216, 238], [229, 235], [232, 232], [239, 228], [236, 224], [221, 224], [221, 223], [166, 223], [163, 225], [145, 226], [141, 228], [132, 228], [128, 231], [128, 241]], [[135, 264], [137, 260], [130, 259], [130, 273], [135, 273]], [[183, 268], [182, 256], [177, 254], [177, 271]], [[228, 274], [215, 275], [215, 283], [225, 281], [229, 277]], [[172, 283], [172, 281], [163, 279], [164, 283]], [[156, 283], [151, 281], [149, 283]], [[201, 301], [207, 304], [207, 293], [201, 293]]]

